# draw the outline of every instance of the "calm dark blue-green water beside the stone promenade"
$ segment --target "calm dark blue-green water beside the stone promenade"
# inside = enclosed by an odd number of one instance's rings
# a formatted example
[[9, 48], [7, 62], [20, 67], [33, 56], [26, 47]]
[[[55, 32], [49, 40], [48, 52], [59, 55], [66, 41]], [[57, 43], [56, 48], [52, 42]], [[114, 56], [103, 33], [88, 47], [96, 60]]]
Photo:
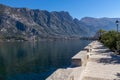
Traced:
[[89, 41], [0, 43], [0, 80], [45, 80], [58, 68], [70, 66], [71, 57]]

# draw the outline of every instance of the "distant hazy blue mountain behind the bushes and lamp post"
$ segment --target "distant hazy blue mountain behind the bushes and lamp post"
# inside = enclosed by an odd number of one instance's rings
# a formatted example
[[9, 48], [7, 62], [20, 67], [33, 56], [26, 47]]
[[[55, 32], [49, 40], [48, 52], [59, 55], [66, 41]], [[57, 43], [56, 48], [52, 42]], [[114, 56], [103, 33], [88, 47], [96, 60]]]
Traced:
[[115, 21], [120, 20], [120, 18], [92, 18], [84, 17], [80, 21], [85, 24], [89, 30], [89, 35], [94, 35], [96, 31], [100, 29], [104, 30], [116, 30]]

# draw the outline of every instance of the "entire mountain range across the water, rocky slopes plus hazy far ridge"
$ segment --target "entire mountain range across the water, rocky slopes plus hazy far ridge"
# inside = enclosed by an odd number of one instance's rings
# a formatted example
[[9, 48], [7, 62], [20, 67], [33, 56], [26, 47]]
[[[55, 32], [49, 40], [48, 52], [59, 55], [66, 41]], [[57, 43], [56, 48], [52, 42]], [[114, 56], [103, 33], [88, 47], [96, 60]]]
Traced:
[[117, 18], [73, 19], [65, 11], [12, 8], [0, 4], [0, 38], [69, 39], [94, 35], [97, 30], [115, 29]]

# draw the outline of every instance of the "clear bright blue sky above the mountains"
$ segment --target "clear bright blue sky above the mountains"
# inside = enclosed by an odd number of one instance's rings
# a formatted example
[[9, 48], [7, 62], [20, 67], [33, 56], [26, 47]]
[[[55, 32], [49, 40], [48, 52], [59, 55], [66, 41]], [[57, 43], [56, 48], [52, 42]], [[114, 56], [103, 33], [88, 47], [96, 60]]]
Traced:
[[68, 11], [73, 18], [120, 17], [120, 0], [0, 0], [12, 7]]

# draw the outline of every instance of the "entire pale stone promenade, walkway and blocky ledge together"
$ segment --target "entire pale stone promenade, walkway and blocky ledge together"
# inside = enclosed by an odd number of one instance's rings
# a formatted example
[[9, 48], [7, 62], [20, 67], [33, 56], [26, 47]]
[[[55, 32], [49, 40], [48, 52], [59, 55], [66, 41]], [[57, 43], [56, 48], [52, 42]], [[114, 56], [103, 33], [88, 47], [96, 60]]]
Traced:
[[91, 42], [72, 59], [81, 59], [77, 61], [80, 66], [58, 69], [46, 80], [120, 80], [120, 55], [98, 41]]

